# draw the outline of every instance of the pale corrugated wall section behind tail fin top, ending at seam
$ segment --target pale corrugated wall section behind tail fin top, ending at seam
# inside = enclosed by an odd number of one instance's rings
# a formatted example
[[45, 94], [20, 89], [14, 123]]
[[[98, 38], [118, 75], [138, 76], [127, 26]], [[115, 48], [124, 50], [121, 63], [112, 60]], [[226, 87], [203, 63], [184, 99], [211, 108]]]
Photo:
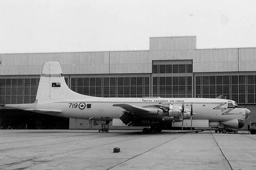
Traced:
[[108, 74], [109, 52], [1, 54], [0, 75], [38, 75], [47, 61], [59, 61], [64, 74]]

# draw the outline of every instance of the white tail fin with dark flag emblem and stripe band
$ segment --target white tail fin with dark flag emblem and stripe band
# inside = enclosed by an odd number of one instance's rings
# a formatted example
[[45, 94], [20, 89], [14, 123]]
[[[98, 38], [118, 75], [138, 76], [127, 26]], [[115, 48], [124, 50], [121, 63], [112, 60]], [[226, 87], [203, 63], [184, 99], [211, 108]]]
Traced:
[[74, 99], [76, 96], [81, 95], [73, 92], [67, 86], [60, 63], [56, 61], [44, 63], [36, 101], [67, 100]]

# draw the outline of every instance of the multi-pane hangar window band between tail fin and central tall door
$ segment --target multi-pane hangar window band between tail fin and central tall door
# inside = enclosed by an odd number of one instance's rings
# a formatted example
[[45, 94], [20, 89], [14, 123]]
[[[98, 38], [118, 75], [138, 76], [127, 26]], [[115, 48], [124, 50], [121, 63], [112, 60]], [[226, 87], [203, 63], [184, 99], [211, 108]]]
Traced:
[[142, 97], [150, 94], [149, 77], [71, 78], [71, 89], [99, 97]]

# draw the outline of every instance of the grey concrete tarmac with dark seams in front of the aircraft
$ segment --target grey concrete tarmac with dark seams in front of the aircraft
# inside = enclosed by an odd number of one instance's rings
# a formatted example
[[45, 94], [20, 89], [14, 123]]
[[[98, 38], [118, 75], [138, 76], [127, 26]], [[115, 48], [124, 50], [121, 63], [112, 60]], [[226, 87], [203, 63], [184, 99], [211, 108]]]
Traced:
[[0, 130], [0, 169], [256, 169], [256, 135], [177, 132]]

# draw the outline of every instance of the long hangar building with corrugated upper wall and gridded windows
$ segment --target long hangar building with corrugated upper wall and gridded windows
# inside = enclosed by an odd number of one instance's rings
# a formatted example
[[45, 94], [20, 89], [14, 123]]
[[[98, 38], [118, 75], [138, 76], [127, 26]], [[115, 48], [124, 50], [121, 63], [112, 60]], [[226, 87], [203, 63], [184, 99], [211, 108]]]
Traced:
[[2, 128], [17, 128], [23, 126], [22, 122], [26, 128], [88, 128], [86, 120], [42, 116], [4, 107], [35, 101], [42, 65], [47, 61], [59, 61], [69, 88], [80, 94], [224, 95], [251, 110], [245, 128], [248, 122], [256, 121], [256, 48], [196, 49], [196, 37], [186, 36], [151, 37], [148, 50], [0, 54]]

